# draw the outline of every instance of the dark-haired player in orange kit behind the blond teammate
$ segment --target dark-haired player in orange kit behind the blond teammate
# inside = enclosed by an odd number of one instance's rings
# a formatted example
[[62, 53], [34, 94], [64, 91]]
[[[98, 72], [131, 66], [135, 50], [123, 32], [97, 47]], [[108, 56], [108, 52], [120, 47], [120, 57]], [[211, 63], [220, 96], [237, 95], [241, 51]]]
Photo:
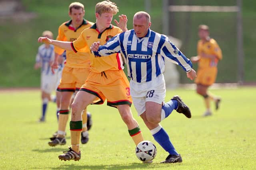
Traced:
[[[60, 41], [74, 41], [78, 38], [82, 31], [90, 26], [92, 22], [84, 19], [84, 5], [79, 2], [73, 2], [69, 6], [69, 16], [71, 20], [62, 23], [58, 29], [57, 40]], [[52, 64], [52, 72], [58, 68], [58, 58], [64, 52], [63, 49], [55, 46], [55, 58]], [[66, 51], [66, 64], [64, 66], [58, 91], [61, 92], [60, 111], [58, 120], [58, 134], [56, 137], [50, 138], [48, 142], [50, 146], [65, 145], [65, 130], [68, 122], [68, 113], [72, 95], [78, 92], [82, 84], [84, 84], [90, 68], [90, 59], [88, 53], [74, 53], [73, 51]], [[87, 111], [84, 109], [83, 125], [81, 133], [81, 142], [88, 142], [87, 131]]]

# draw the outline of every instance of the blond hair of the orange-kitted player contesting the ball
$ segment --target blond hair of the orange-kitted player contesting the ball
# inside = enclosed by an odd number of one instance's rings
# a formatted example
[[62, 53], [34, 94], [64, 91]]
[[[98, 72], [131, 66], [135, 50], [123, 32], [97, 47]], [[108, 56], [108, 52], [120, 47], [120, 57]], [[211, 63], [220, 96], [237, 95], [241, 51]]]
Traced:
[[116, 15], [118, 13], [118, 7], [114, 2], [111, 2], [109, 0], [105, 0], [102, 2], [99, 2], [95, 6], [95, 13], [102, 14], [102, 13], [112, 13], [113, 15]]

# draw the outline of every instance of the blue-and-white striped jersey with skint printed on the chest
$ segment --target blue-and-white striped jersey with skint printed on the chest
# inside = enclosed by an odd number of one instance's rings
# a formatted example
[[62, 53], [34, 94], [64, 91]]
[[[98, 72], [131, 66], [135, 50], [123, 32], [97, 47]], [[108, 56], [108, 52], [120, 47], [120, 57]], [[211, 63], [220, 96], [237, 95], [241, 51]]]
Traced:
[[165, 59], [180, 65], [186, 72], [192, 63], [170, 42], [166, 35], [148, 29], [143, 38], [138, 38], [134, 29], [120, 33], [101, 45], [95, 56], [121, 53], [126, 61], [128, 76], [135, 82], [148, 82], [164, 72]]

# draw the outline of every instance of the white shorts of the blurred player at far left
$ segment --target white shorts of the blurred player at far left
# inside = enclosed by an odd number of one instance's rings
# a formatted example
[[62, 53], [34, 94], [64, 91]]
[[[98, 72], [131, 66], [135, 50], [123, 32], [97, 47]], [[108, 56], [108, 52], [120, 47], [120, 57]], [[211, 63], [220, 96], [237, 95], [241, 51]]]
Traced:
[[48, 94], [55, 91], [57, 84], [57, 74], [41, 74], [41, 90]]

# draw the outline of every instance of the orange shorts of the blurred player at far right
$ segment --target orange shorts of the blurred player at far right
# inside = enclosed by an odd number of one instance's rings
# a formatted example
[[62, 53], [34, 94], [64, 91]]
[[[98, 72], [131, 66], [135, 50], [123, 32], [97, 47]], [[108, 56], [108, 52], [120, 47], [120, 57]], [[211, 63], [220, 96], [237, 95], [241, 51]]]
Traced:
[[211, 86], [216, 80], [217, 72], [216, 67], [198, 69], [195, 83]]

